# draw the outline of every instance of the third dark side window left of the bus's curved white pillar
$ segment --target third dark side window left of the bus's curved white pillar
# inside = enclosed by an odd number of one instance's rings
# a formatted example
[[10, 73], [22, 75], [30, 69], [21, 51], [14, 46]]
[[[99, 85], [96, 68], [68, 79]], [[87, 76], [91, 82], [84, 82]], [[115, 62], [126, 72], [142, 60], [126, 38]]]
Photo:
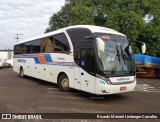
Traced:
[[32, 53], [40, 53], [41, 40], [34, 40], [32, 43]]

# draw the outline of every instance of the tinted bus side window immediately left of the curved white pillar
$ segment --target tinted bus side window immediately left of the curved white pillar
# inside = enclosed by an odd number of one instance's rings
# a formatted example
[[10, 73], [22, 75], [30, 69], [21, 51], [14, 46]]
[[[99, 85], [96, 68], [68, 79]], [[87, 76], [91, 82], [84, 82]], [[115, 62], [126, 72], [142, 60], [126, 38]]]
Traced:
[[65, 34], [54, 35], [54, 52], [69, 52], [69, 42]]

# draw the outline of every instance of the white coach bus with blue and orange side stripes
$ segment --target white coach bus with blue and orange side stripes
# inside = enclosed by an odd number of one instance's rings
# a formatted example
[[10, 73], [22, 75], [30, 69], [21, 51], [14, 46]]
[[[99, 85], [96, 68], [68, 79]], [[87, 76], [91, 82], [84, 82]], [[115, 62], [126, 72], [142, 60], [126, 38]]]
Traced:
[[136, 86], [127, 37], [99, 26], [71, 26], [17, 43], [13, 70], [56, 83], [65, 92], [72, 88], [106, 95]]

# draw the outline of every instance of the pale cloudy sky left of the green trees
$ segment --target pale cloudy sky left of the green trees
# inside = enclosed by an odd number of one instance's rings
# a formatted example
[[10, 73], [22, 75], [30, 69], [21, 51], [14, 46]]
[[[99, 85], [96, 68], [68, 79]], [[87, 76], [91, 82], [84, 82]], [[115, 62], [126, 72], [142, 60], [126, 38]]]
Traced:
[[65, 0], [0, 0], [0, 49], [13, 49], [17, 42], [41, 35], [50, 17], [61, 10]]

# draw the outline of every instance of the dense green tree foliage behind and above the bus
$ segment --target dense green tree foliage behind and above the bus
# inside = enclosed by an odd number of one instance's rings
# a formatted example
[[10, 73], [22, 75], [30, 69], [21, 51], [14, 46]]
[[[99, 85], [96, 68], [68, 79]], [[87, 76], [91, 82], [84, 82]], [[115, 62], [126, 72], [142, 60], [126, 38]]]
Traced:
[[[46, 32], [70, 25], [99, 25], [127, 35], [133, 45], [144, 41], [146, 54], [160, 56], [160, 0], [70, 0], [50, 18]], [[144, 17], [154, 17], [145, 22]]]

